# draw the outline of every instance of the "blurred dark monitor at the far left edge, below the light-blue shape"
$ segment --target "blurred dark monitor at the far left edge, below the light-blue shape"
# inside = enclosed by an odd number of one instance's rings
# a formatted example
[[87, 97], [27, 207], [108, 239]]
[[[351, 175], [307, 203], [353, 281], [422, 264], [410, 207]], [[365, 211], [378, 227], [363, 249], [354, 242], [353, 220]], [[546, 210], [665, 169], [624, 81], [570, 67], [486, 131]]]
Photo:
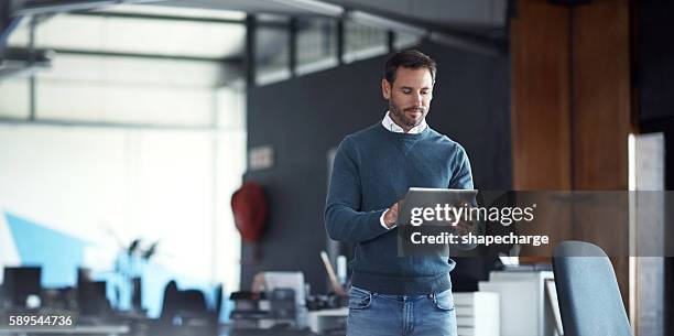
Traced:
[[40, 295], [42, 285], [40, 267], [6, 267], [2, 281], [4, 297], [12, 306], [24, 307], [29, 295]]

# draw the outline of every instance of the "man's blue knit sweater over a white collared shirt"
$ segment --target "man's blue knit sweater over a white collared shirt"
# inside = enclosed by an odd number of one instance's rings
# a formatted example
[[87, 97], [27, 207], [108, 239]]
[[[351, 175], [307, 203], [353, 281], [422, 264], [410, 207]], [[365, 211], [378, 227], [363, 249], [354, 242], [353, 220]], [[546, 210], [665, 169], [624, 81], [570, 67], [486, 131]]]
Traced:
[[379, 218], [410, 187], [472, 188], [466, 151], [431, 128], [395, 133], [381, 122], [347, 136], [335, 154], [325, 207], [330, 238], [355, 243], [352, 285], [381, 294], [430, 294], [452, 288], [452, 259], [398, 257], [396, 228]]

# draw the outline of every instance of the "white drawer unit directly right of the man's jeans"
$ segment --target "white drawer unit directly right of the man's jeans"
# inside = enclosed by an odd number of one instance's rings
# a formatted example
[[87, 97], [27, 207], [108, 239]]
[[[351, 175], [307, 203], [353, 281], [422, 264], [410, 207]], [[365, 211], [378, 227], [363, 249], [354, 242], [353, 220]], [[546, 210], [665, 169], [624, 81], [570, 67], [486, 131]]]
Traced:
[[499, 336], [499, 294], [453, 293], [458, 336]]

